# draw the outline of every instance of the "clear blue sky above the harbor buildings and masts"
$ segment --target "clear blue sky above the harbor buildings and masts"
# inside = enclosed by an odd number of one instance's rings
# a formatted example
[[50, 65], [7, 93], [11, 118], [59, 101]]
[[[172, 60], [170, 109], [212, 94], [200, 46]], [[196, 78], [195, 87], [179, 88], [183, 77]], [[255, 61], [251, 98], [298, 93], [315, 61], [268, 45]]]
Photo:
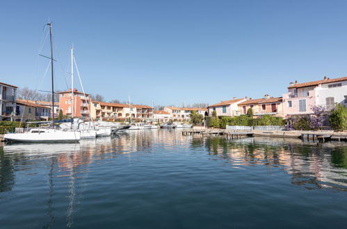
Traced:
[[281, 96], [293, 80], [347, 75], [346, 12], [347, 1], [1, 1], [0, 81], [49, 90], [38, 50], [50, 18], [58, 90], [73, 42], [86, 92], [106, 100]]

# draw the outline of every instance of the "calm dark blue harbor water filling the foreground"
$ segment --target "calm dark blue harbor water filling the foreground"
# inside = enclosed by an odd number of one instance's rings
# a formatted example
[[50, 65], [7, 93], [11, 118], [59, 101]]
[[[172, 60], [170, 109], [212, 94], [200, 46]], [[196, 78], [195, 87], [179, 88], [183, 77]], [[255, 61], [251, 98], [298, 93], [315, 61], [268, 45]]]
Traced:
[[1, 228], [346, 228], [347, 144], [128, 131], [0, 146]]

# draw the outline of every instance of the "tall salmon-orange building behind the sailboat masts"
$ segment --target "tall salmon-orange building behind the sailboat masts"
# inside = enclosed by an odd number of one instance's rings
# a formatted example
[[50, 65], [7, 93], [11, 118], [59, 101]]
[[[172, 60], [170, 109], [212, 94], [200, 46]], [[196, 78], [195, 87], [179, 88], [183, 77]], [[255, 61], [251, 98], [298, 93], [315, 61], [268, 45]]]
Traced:
[[[82, 120], [90, 120], [90, 99], [89, 94], [83, 94], [74, 89], [65, 92], [58, 92], [59, 94], [59, 109], [63, 111], [63, 114], [67, 114], [70, 117], [78, 117]], [[72, 103], [72, 97], [74, 101]], [[73, 104], [73, 107], [72, 107]]]

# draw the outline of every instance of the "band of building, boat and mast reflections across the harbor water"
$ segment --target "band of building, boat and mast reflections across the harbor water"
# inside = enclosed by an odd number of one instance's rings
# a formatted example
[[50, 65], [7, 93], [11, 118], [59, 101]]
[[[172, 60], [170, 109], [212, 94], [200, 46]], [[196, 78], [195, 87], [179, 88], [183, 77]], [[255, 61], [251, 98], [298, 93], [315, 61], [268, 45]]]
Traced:
[[113, 137], [83, 140], [79, 144], [6, 144], [3, 149], [0, 147], [0, 192], [13, 189], [16, 171], [44, 167], [48, 191], [45, 228], [55, 220], [52, 201], [56, 182], [67, 184], [66, 225], [70, 227], [88, 185], [91, 164], [124, 154], [129, 156], [131, 163], [134, 153], [192, 150], [207, 152], [211, 160], [224, 160], [231, 169], [278, 168], [290, 174], [293, 185], [307, 189], [347, 190], [346, 144], [308, 144], [298, 139], [257, 137], [227, 140], [186, 137], [179, 130], [129, 130]]

